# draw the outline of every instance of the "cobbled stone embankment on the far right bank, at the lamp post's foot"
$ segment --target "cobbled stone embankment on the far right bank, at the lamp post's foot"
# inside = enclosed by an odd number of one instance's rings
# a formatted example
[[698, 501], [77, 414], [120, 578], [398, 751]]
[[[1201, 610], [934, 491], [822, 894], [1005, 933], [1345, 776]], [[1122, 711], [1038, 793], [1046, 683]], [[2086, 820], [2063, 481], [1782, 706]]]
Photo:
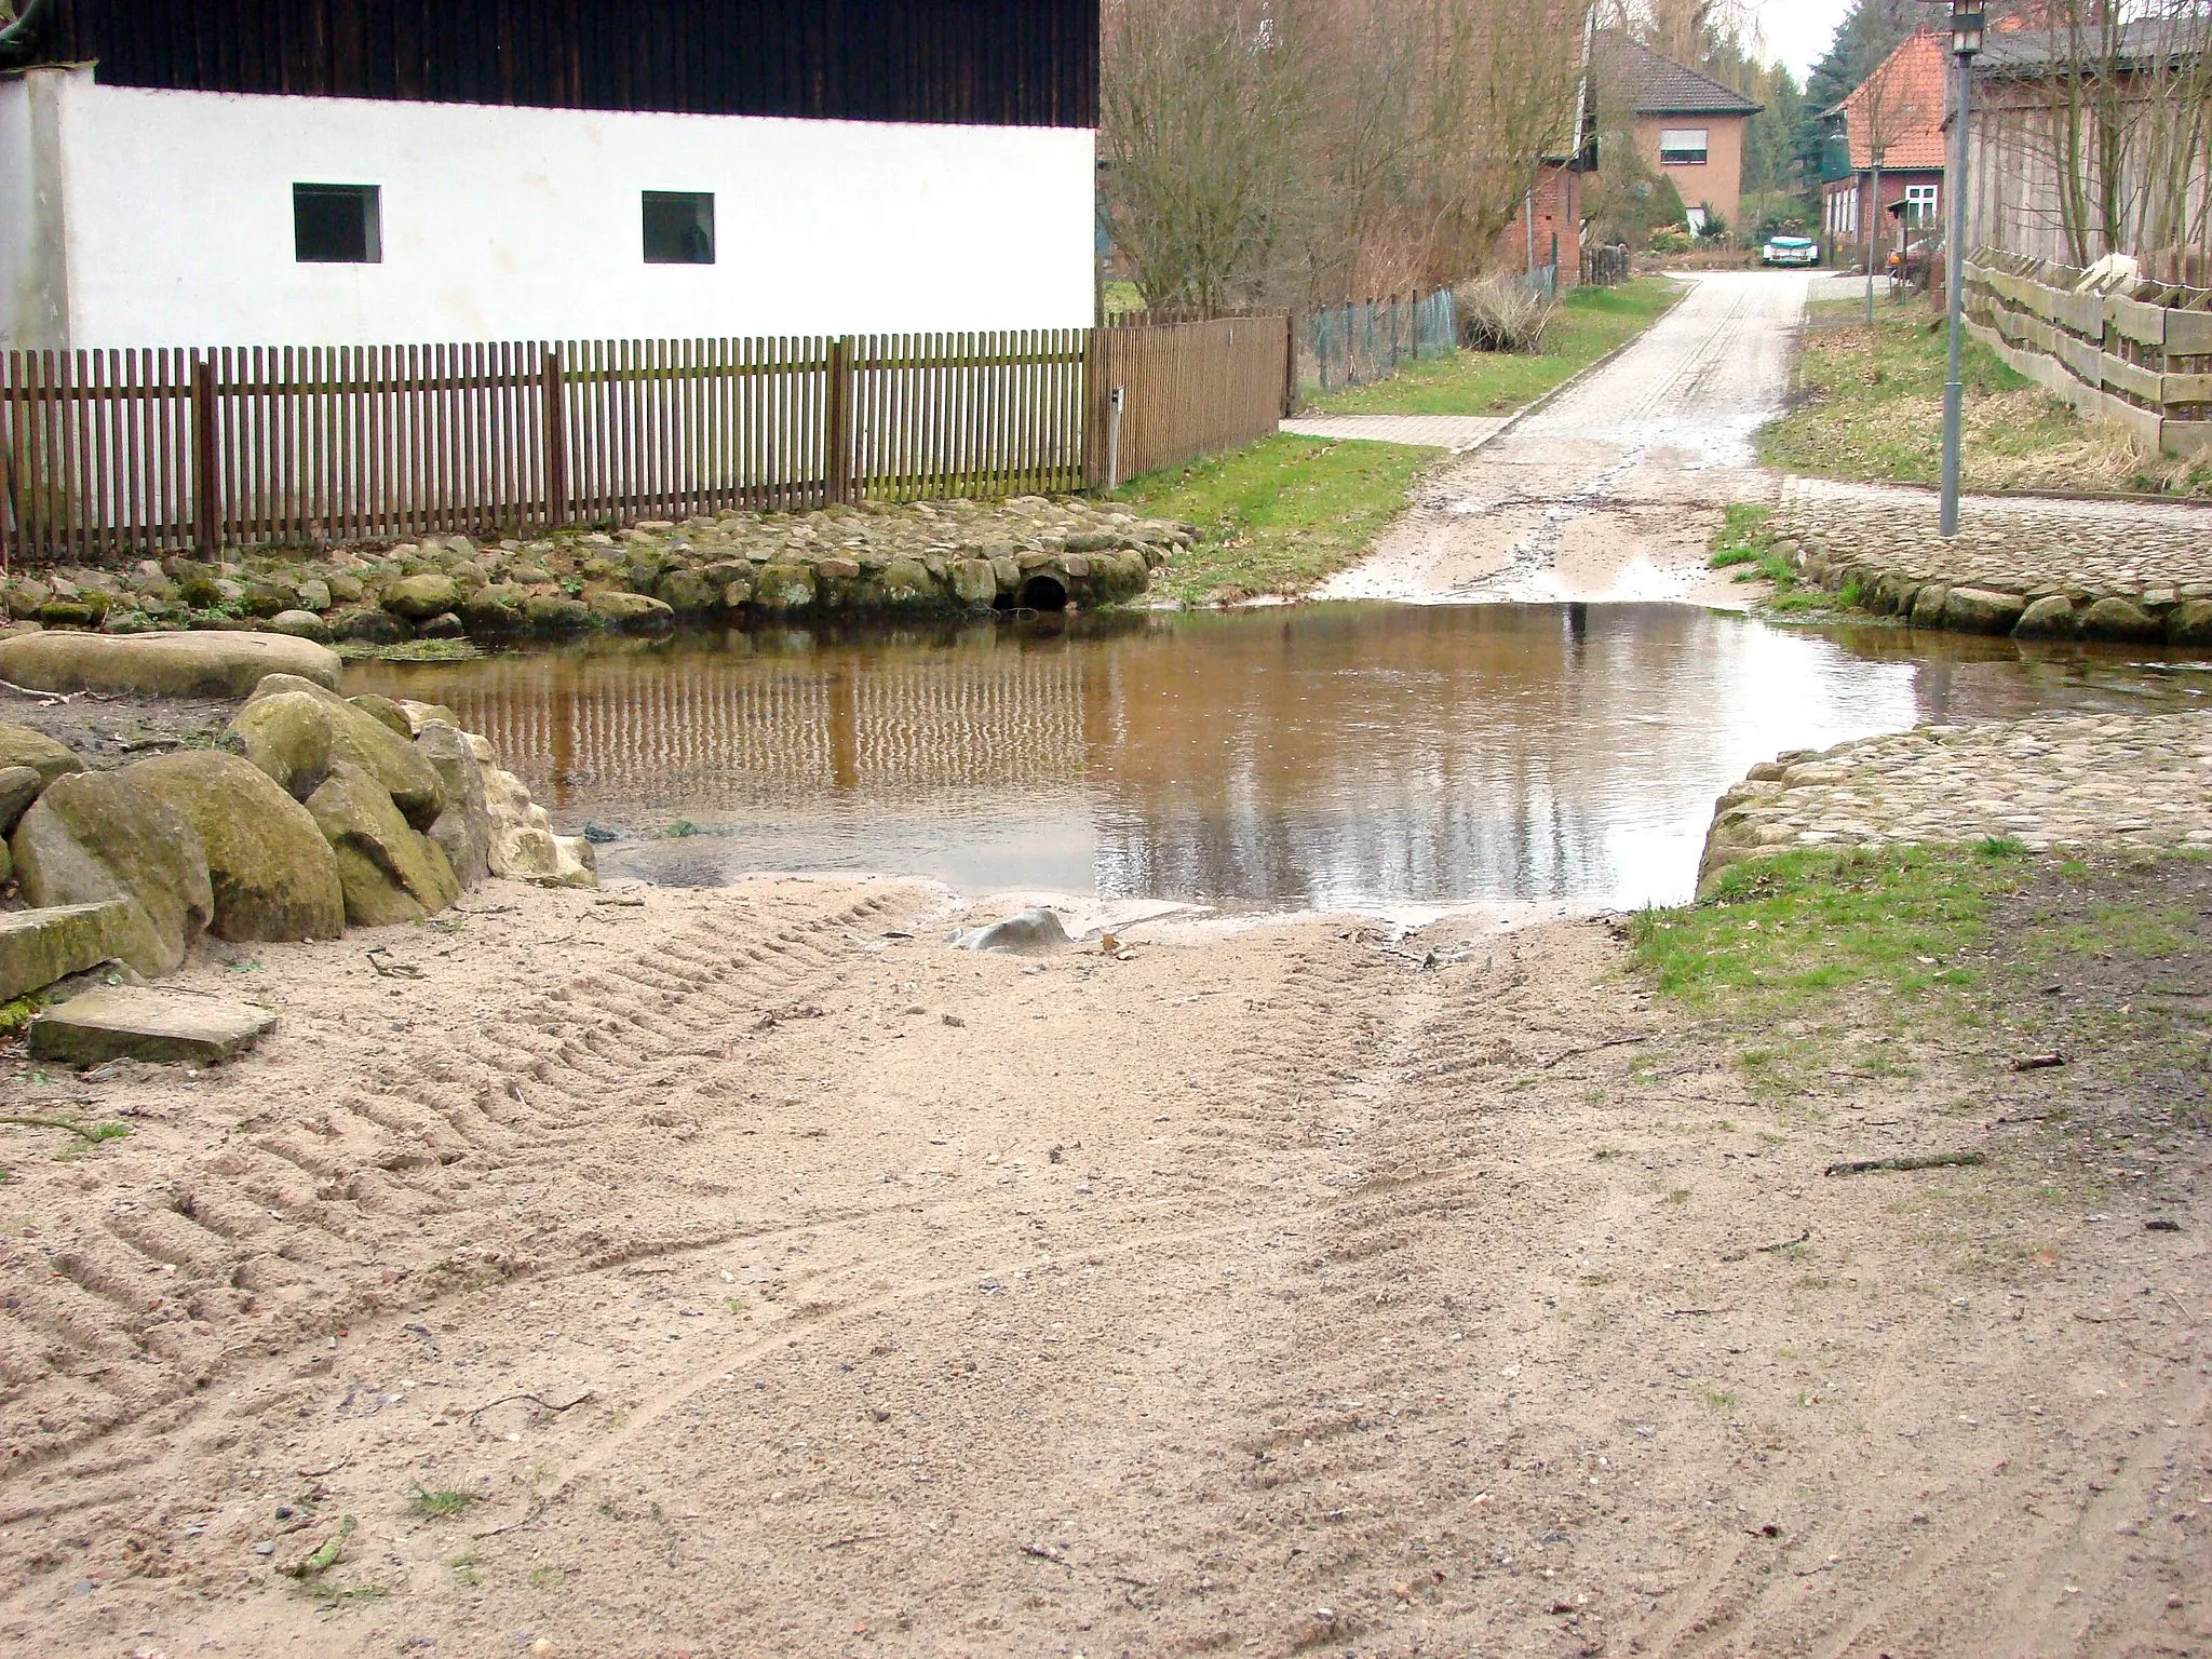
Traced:
[[1792, 478], [1776, 546], [1803, 577], [1916, 628], [2212, 644], [2212, 511], [1975, 495], [1936, 533], [1918, 489]]

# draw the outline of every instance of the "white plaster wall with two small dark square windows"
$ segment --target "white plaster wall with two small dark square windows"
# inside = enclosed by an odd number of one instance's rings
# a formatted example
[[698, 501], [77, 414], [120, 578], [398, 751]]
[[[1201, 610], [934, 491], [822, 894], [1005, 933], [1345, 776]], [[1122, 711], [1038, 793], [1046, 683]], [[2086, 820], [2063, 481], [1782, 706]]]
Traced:
[[[1088, 131], [518, 111], [73, 75], [71, 343], [1077, 327]], [[301, 265], [292, 184], [383, 186], [383, 263]], [[644, 190], [712, 190], [712, 265], [646, 265]]]

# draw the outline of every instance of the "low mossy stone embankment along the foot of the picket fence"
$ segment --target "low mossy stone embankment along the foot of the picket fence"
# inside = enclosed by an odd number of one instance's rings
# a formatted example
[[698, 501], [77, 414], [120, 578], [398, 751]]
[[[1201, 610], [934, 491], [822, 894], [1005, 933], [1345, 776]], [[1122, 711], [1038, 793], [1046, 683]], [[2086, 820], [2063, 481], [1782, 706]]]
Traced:
[[316, 641], [655, 630], [681, 619], [1060, 611], [1135, 599], [1192, 526], [1110, 502], [832, 507], [648, 520], [611, 535], [425, 535], [389, 549], [268, 549], [230, 564], [170, 557], [126, 571], [0, 582], [18, 624], [148, 633], [265, 628]]

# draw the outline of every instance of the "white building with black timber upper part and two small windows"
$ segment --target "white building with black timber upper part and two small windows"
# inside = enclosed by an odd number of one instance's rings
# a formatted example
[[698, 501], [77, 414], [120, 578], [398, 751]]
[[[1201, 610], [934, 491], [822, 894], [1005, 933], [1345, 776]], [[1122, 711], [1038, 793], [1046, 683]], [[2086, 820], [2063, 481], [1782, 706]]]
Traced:
[[1097, 0], [42, 0], [0, 349], [1075, 327]]

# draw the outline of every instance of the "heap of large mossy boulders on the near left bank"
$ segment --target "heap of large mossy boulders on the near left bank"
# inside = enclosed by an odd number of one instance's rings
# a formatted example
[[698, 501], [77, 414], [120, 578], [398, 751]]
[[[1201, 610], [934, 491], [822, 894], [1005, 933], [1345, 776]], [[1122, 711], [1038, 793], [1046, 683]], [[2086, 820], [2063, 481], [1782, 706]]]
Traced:
[[[20, 898], [0, 909], [0, 1002], [95, 971], [168, 973], [204, 933], [319, 940], [422, 920], [487, 876], [595, 885], [591, 847], [551, 832], [482, 737], [440, 706], [341, 697], [321, 646], [58, 633], [0, 653], [49, 641], [97, 657], [88, 672], [111, 688], [157, 690], [186, 655], [217, 684], [254, 679], [223, 745], [108, 772], [0, 723], [0, 883]], [[314, 672], [281, 672], [270, 644]], [[49, 684], [88, 677], [69, 661], [31, 668]]]

